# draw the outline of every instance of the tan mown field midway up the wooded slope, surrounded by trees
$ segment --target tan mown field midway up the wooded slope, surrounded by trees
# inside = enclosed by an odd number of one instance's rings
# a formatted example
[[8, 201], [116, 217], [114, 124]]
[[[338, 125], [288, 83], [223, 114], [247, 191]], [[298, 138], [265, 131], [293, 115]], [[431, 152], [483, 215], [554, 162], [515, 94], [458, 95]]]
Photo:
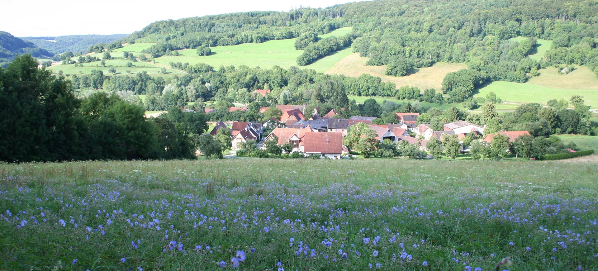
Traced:
[[386, 65], [366, 66], [368, 57], [360, 57], [359, 53], [352, 53], [340, 60], [327, 74], [344, 74], [350, 77], [359, 77], [362, 74], [370, 74], [382, 78], [385, 82], [394, 82], [396, 87], [416, 86], [423, 90], [442, 88], [444, 75], [449, 72], [456, 72], [460, 69], [466, 69], [466, 64], [438, 62], [428, 68], [417, 69], [417, 72], [404, 77], [393, 77], [385, 75]]

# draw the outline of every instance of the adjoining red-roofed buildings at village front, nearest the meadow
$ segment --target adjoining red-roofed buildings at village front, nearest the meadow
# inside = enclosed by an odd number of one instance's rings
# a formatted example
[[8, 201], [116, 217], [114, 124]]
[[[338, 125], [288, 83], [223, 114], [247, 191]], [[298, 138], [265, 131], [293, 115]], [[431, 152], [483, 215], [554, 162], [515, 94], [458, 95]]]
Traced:
[[343, 154], [343, 135], [341, 133], [311, 132], [308, 129], [276, 128], [264, 139], [264, 142], [272, 140], [276, 136], [278, 144], [284, 145], [290, 142], [293, 145], [292, 151], [340, 159]]

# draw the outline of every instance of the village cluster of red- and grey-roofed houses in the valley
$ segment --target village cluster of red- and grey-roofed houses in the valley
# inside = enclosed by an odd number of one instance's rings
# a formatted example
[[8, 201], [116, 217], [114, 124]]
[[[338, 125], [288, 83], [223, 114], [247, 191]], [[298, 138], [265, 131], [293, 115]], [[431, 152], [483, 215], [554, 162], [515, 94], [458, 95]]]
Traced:
[[[380, 142], [385, 139], [390, 139], [392, 142], [406, 141], [410, 144], [419, 144], [422, 150], [427, 150], [426, 143], [433, 137], [444, 141], [445, 135], [457, 135], [463, 145], [463, 139], [468, 133], [482, 136], [485, 128], [459, 120], [446, 123], [443, 125], [444, 130], [436, 131], [430, 124], [417, 124], [419, 113], [395, 113], [398, 119], [397, 124], [379, 125], [371, 124], [375, 117], [338, 118], [340, 114], [335, 109], [321, 116], [318, 114], [319, 108], [316, 108], [307, 114], [309, 115], [307, 117], [304, 115], [305, 105], [276, 105], [276, 107], [282, 111], [279, 119], [272, 118], [266, 123], [233, 121], [232, 128], [227, 127], [223, 122], [218, 122], [213, 124], [215, 127], [210, 135], [216, 135], [218, 129], [230, 129], [233, 135], [233, 150], [238, 150], [240, 143], [249, 140], [269, 141], [276, 136], [279, 145], [291, 143], [292, 151], [303, 153], [304, 156], [315, 155], [340, 159], [349, 154], [349, 150], [343, 145], [343, 137], [347, 135], [349, 127], [357, 123], [369, 124], [370, 128], [376, 131], [376, 139]], [[260, 112], [266, 111], [266, 109], [261, 108]], [[341, 108], [342, 110], [343, 108]], [[272, 128], [272, 132], [266, 138], [262, 138], [264, 129]], [[515, 141], [520, 135], [529, 135], [527, 131], [501, 133], [507, 135], [509, 141]], [[482, 141], [492, 141], [493, 135], [496, 133], [485, 135]]]

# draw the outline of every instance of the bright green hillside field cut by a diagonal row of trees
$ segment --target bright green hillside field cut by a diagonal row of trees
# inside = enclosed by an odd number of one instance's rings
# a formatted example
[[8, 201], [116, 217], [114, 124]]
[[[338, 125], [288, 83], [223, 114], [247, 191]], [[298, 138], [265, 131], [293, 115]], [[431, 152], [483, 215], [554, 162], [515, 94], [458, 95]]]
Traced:
[[[329, 34], [320, 35], [320, 38], [327, 36], [344, 36], [352, 31], [351, 27], [339, 28]], [[298, 66], [302, 69], [315, 69], [318, 72], [325, 72], [332, 68], [337, 62], [351, 53], [350, 48], [337, 51], [330, 56], [319, 59], [307, 66], [297, 65], [297, 57], [303, 50], [295, 50], [295, 39], [278, 39], [262, 43], [246, 43], [230, 46], [210, 47], [212, 54], [209, 56], [198, 56], [196, 49], [179, 50], [179, 56], [161, 56], [155, 59], [156, 63], [169, 65], [170, 62], [188, 62], [191, 65], [206, 63], [218, 69], [219, 66], [240, 66], [246, 65], [249, 68], [259, 66], [263, 69], [271, 69], [273, 66], [280, 66], [288, 69], [290, 66]], [[133, 44], [135, 45], [135, 44]], [[126, 48], [126, 47], [123, 47]]]

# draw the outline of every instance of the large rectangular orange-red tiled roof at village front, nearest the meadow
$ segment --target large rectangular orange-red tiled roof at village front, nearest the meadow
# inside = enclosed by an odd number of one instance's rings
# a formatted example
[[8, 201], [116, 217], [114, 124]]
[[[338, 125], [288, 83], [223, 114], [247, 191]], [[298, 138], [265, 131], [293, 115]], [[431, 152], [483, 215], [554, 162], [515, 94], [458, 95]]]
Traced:
[[303, 136], [304, 153], [343, 152], [343, 134], [327, 132], [305, 132]]

